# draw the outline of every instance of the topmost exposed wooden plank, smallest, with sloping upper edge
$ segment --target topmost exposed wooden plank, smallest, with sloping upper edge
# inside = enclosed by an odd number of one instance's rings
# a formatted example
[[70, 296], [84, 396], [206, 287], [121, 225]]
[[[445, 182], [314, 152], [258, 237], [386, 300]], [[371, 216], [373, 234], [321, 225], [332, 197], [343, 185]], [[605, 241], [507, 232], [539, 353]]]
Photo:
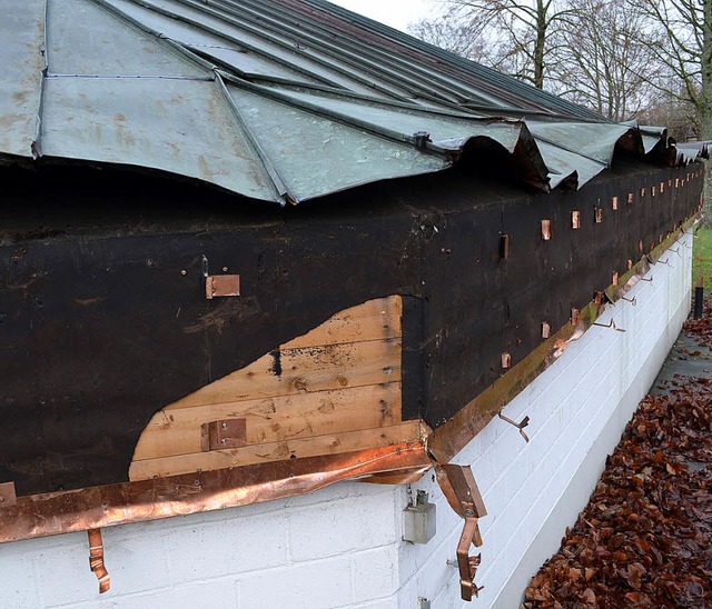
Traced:
[[403, 336], [402, 317], [403, 299], [399, 296], [376, 298], [339, 311], [322, 326], [290, 340], [281, 348], [399, 338]]

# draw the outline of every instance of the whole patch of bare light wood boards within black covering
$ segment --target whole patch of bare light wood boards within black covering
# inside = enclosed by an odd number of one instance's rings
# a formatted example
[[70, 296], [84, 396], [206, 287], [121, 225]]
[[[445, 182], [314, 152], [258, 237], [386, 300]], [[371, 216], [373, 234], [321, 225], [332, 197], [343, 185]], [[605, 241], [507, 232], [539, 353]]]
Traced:
[[[130, 479], [376, 448], [422, 437], [402, 418], [399, 297], [336, 313], [301, 337], [160, 410]], [[201, 426], [244, 419], [247, 446], [204, 451]]]

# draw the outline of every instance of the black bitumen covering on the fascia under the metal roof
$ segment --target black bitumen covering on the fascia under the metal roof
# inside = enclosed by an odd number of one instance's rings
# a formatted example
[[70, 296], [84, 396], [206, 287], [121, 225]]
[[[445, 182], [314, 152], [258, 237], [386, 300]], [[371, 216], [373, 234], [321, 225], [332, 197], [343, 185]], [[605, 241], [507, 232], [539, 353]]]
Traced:
[[[279, 209], [160, 176], [4, 168], [0, 481], [19, 495], [125, 481], [160, 408], [389, 294], [411, 297], [405, 415], [437, 427], [500, 377], [503, 351], [523, 359], [542, 321], [562, 327], [639, 241], [647, 252], [689, 217], [702, 178], [668, 180], [700, 169], [619, 159], [544, 194], [461, 168]], [[206, 300], [204, 256], [240, 274], [239, 298]]]

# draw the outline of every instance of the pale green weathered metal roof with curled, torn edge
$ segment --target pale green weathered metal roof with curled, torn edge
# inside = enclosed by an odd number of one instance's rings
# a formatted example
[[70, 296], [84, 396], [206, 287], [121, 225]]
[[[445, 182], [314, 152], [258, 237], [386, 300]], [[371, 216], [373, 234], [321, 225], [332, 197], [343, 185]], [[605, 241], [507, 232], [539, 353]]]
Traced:
[[578, 188], [622, 138], [641, 154], [666, 139], [324, 0], [0, 9], [4, 162], [134, 166], [296, 203], [441, 171], [492, 142], [522, 181]]

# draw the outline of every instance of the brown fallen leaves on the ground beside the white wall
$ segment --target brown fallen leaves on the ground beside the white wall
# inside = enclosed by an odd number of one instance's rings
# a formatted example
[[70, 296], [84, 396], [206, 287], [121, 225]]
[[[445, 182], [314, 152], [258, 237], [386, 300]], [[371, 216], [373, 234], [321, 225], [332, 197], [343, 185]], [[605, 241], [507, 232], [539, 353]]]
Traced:
[[[712, 346], [709, 299], [685, 332]], [[712, 379], [675, 375], [661, 389], [641, 402], [524, 607], [712, 607]]]

